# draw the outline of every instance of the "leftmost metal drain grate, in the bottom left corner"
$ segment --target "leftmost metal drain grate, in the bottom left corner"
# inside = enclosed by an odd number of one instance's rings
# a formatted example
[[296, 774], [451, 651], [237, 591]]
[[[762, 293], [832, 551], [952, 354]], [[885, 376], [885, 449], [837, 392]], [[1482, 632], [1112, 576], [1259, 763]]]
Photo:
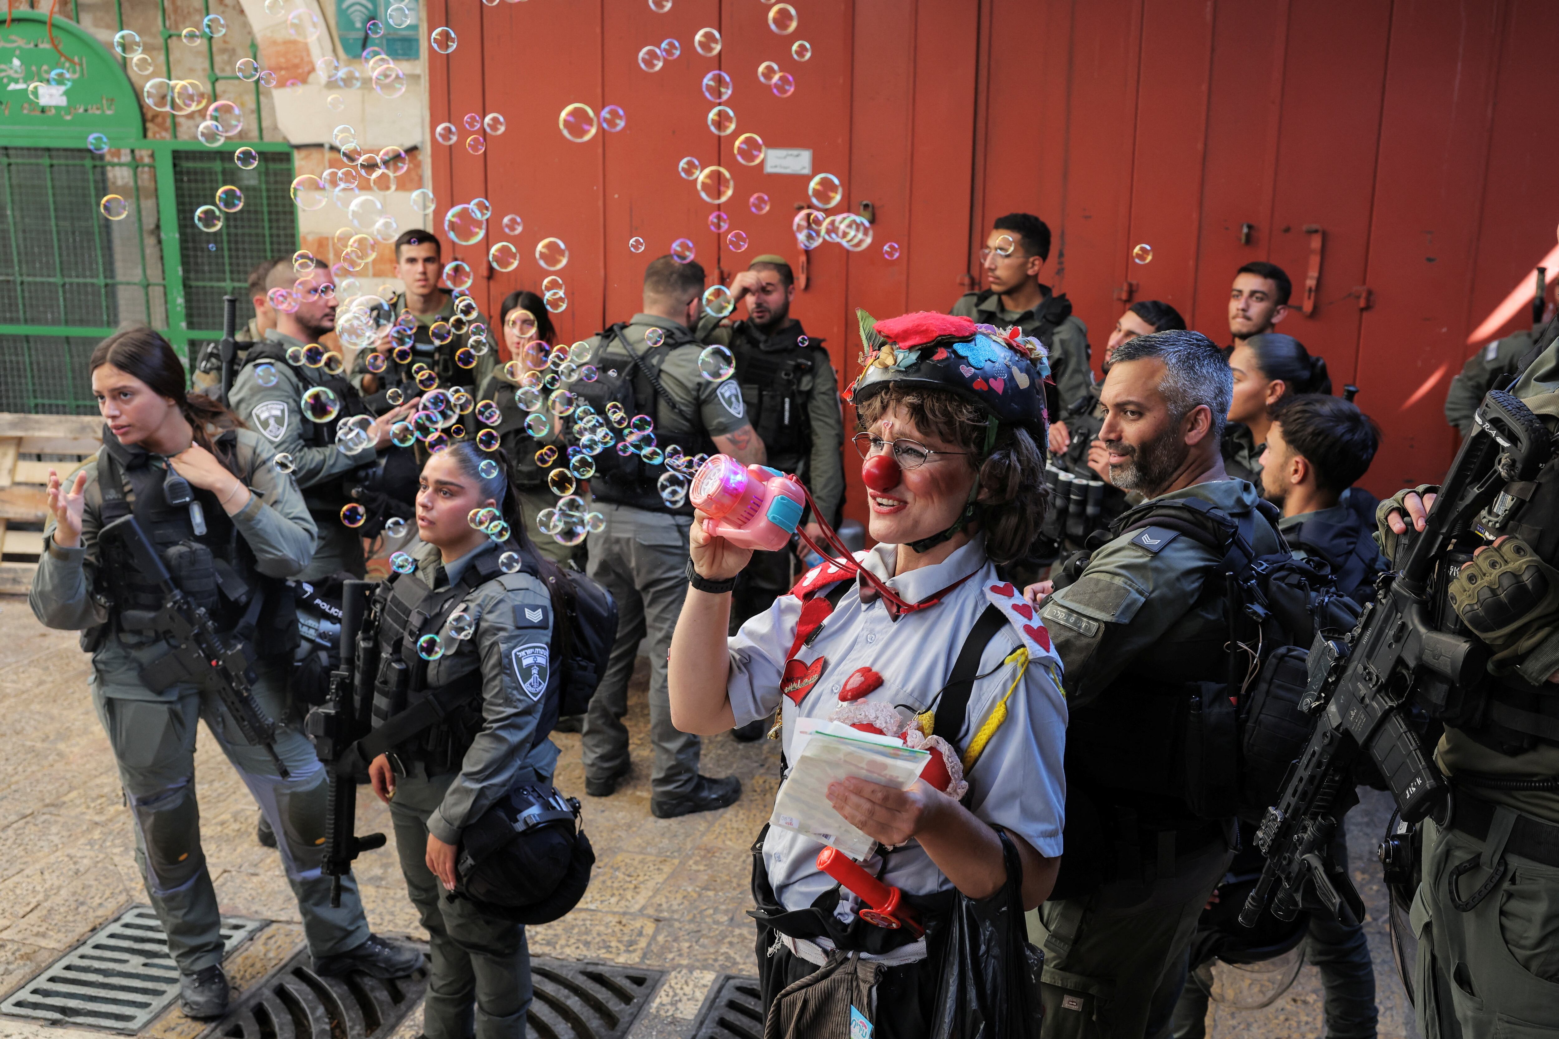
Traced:
[[[221, 917], [223, 955], [265, 921]], [[151, 907], [134, 905], [0, 1003], [0, 1014], [139, 1031], [179, 994], [179, 969]]]

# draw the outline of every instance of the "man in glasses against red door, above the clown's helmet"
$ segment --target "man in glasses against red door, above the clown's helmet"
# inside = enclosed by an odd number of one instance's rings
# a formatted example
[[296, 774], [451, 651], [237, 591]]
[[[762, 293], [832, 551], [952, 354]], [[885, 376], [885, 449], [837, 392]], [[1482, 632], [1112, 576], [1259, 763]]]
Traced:
[[1049, 226], [1032, 213], [998, 217], [979, 259], [988, 288], [960, 296], [949, 313], [998, 327], [1015, 324], [1043, 343], [1054, 382], [1045, 383], [1046, 413], [1060, 414], [1093, 386], [1093, 369], [1088, 326], [1073, 313], [1066, 293], [1040, 284], [1051, 259]]

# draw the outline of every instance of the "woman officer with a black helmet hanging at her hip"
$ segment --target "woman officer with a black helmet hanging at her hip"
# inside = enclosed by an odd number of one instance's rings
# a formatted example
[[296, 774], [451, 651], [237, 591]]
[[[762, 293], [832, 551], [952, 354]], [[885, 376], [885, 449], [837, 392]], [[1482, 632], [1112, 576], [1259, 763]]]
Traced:
[[[494, 530], [500, 516], [508, 531]], [[474, 1013], [477, 1039], [524, 1039], [524, 928], [443, 889], [457, 885], [461, 830], [513, 787], [552, 777], [557, 698], [546, 693], [561, 575], [533, 555], [502, 452], [471, 441], [422, 466], [416, 528], [427, 550], [415, 572], [410, 558], [391, 558], [398, 573], [379, 592], [374, 721], [426, 696], [451, 706], [438, 724], [377, 755], [368, 776], [390, 805], [405, 886], [429, 932], [422, 1033], [465, 1039]]]

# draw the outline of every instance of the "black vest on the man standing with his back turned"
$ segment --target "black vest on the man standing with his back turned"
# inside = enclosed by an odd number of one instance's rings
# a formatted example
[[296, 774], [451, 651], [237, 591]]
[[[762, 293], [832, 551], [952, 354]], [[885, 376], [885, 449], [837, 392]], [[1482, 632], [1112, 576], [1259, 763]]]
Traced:
[[[611, 402], [620, 403], [630, 416], [649, 411], [653, 405], [656, 447], [664, 452], [667, 447], [677, 446], [681, 447], [686, 456], [716, 453], [714, 441], [703, 428], [703, 419], [697, 413], [689, 414], [677, 403], [659, 379], [661, 365], [666, 363], [666, 357], [680, 346], [697, 346], [697, 340], [692, 338], [691, 332], [677, 329], [666, 332], [666, 341], [661, 346], [639, 349], [631, 346], [628, 338], [622, 335], [625, 327], [624, 322], [619, 322], [599, 333], [592, 363], [600, 369], [600, 377], [596, 382], [575, 383], [574, 393], [588, 400], [596, 408], [596, 413], [603, 417], [606, 405]], [[613, 340], [622, 343], [628, 350], [627, 358], [602, 357]], [[613, 371], [617, 374], [613, 375]], [[672, 433], [666, 430], [663, 427], [666, 414], [677, 414], [695, 431]], [[620, 439], [622, 430], [614, 428], [613, 433]], [[596, 455], [596, 477], [591, 480], [591, 494], [597, 502], [692, 516], [691, 503], [683, 503], [673, 509], [667, 508], [661, 500], [658, 483], [666, 472], [666, 466], [650, 466], [638, 453], [619, 455], [616, 446], [613, 446]]]

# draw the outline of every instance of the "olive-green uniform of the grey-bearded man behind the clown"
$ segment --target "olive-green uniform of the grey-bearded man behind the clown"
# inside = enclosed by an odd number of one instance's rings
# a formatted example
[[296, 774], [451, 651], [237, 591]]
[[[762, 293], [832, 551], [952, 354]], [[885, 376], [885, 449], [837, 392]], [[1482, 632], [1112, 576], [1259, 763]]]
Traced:
[[[1239, 522], [1257, 555], [1277, 550], [1241, 480], [1151, 498], [1112, 530], [1188, 498]], [[1046, 1036], [1140, 1039], [1151, 1020], [1168, 1023], [1166, 981], [1232, 857], [1225, 822], [1193, 816], [1171, 776], [1154, 774], [1180, 738], [1161, 724], [1165, 706], [1188, 696], [1188, 682], [1227, 679], [1225, 586], [1210, 579], [1219, 572], [1211, 548], [1147, 527], [1094, 551], [1040, 609], [1071, 713], [1066, 858], [1057, 894], [1030, 917], [1045, 944]]]

